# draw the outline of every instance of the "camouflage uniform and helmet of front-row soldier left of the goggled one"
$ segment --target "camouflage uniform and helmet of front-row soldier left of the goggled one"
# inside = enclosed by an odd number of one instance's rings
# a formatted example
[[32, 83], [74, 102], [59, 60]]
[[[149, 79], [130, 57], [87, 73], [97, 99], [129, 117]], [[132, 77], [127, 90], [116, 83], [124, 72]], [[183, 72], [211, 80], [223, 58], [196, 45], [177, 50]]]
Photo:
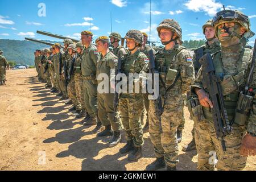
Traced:
[[[160, 23], [157, 28], [159, 36], [161, 28], [170, 28], [172, 32], [176, 32], [178, 38], [181, 36], [181, 28], [175, 20], [166, 19]], [[193, 69], [191, 55], [189, 55], [185, 47], [179, 46], [179, 44], [176, 44], [170, 50], [166, 50], [165, 48], [160, 49], [155, 55], [155, 66], [160, 73], [159, 78], [162, 78], [164, 82], [164, 85], [162, 85], [162, 81], [159, 81], [159, 94], [162, 96], [162, 103], [164, 103], [163, 97], [166, 92], [164, 86], [168, 88], [173, 84], [175, 78], [179, 77], [175, 86], [166, 93], [166, 104], [161, 117], [163, 134], [160, 134], [159, 119], [155, 112], [153, 100], [150, 100], [148, 114], [150, 139], [154, 144], [156, 158], [164, 157], [169, 167], [176, 167], [179, 163], [177, 159], [179, 149], [176, 130], [183, 113], [184, 102], [182, 94], [189, 91], [189, 85], [195, 79], [195, 71]], [[172, 74], [172, 77], [168, 78], [167, 73], [169, 73], [170, 69], [176, 71], [176, 74]]]

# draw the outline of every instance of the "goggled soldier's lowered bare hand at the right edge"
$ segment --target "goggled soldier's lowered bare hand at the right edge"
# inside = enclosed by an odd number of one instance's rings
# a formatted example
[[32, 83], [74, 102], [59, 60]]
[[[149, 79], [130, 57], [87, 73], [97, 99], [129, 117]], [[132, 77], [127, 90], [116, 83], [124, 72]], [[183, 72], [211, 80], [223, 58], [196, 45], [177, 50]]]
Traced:
[[256, 155], [256, 137], [253, 137], [248, 133], [245, 135], [245, 137], [242, 139], [240, 154], [245, 157]]

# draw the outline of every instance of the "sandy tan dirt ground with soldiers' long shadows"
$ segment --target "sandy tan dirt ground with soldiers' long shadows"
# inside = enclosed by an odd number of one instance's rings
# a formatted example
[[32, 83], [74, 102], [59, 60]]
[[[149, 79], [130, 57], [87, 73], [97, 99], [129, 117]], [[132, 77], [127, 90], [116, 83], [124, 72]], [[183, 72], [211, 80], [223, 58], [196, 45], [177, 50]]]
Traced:
[[[148, 133], [143, 158], [129, 162], [118, 152], [125, 139], [108, 148], [110, 138], [97, 138], [68, 108], [37, 81], [35, 69], [7, 71], [0, 87], [0, 170], [144, 170], [154, 161]], [[196, 151], [181, 151], [192, 138], [187, 108], [185, 117], [177, 169], [196, 170]], [[256, 158], [249, 157], [245, 170], [255, 169]]]

